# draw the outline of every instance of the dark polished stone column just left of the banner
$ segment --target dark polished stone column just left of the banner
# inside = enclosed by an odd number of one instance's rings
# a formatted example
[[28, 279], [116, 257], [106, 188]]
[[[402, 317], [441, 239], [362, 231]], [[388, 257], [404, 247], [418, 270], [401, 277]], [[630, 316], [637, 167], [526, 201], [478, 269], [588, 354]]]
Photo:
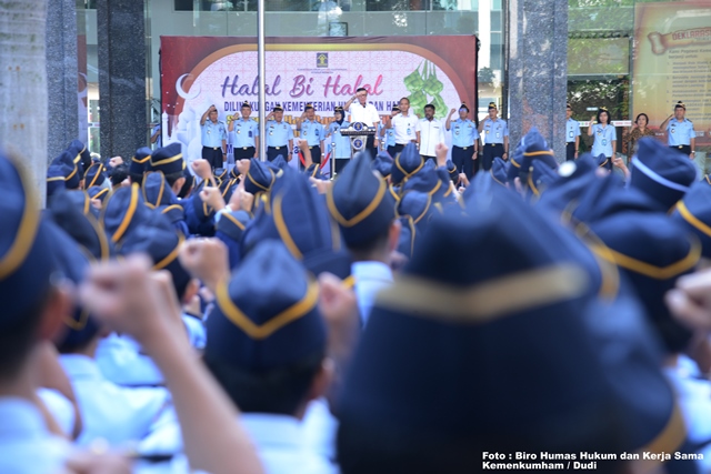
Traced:
[[140, 0], [98, 0], [101, 157], [132, 157], [148, 144], [146, 19]]

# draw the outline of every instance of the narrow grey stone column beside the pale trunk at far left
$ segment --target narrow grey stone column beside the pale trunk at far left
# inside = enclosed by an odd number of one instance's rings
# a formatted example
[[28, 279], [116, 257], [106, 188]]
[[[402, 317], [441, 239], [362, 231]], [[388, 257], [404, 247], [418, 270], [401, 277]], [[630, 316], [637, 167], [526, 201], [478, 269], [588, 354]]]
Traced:
[[79, 133], [76, 0], [47, 2], [46, 34], [47, 157], [51, 160], [59, 155]]

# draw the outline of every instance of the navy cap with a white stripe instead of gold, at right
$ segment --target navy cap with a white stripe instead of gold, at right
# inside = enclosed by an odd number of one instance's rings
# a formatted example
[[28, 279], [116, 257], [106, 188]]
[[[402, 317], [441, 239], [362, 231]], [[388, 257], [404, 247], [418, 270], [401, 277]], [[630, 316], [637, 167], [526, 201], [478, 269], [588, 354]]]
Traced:
[[697, 179], [697, 167], [689, 157], [664, 147], [650, 137], [640, 139], [632, 157], [630, 186], [670, 209], [689, 191]]

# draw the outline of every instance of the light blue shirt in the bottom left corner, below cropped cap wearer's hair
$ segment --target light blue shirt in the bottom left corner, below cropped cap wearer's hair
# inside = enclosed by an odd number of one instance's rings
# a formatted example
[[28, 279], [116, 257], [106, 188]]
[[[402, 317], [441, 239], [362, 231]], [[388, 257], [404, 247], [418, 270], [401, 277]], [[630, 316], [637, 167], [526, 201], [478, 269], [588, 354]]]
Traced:
[[0, 397], [0, 473], [62, 472], [69, 443], [47, 431], [40, 411], [30, 401]]

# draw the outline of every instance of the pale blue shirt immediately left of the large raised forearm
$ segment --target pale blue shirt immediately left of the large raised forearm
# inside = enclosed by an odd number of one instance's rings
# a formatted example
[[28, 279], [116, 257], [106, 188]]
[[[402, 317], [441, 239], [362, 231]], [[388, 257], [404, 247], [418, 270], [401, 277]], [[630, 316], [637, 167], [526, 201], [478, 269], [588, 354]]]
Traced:
[[79, 445], [103, 437], [111, 446], [139, 441], [168, 409], [170, 393], [162, 387], [127, 389], [103, 377], [93, 359], [78, 354], [59, 356], [81, 413]]

